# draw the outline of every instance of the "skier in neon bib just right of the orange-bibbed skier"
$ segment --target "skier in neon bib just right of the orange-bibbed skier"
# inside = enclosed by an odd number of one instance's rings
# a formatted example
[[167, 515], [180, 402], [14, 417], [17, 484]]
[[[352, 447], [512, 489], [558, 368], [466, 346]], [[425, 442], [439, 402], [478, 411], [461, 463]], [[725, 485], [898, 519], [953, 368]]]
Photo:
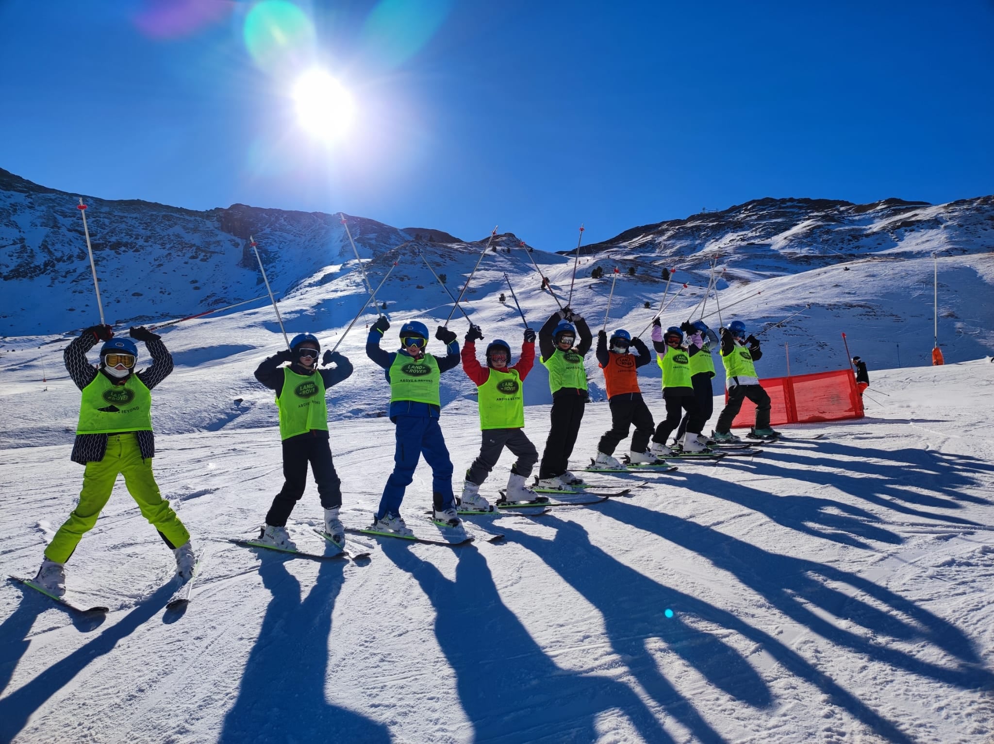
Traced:
[[696, 332], [687, 339], [688, 349], [683, 348], [683, 343], [684, 333], [680, 328], [671, 325], [664, 333], [658, 317], [652, 322], [652, 345], [656, 349], [656, 363], [663, 371], [663, 400], [666, 403], [666, 418], [656, 427], [652, 437], [651, 453], [657, 458], [673, 453], [666, 446], [666, 440], [670, 432], [680, 425], [681, 411], [686, 411], [689, 416], [683, 451], [699, 453], [706, 449], [699, 438], [705, 419], [694, 396], [690, 372], [691, 357], [701, 353], [704, 341], [700, 332]]

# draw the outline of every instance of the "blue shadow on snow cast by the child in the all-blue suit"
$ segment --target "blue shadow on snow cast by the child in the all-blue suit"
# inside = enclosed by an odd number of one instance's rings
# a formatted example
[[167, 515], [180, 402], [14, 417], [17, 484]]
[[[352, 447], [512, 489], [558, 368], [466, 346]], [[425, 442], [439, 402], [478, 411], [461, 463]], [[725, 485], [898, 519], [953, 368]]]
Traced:
[[[455, 580], [407, 545], [383, 545], [435, 609], [435, 638], [456, 676], [475, 742], [589, 742], [597, 717], [620, 711], [645, 741], [673, 742], [627, 685], [558, 666], [501, 601], [486, 559], [459, 549]], [[473, 633], [467, 633], [473, 629]]]

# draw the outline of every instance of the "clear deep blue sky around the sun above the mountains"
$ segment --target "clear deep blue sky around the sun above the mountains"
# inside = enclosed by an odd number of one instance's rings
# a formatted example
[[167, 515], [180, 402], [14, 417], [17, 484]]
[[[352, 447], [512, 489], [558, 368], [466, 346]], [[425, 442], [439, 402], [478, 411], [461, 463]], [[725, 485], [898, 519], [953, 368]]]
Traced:
[[[0, 4], [0, 167], [553, 251], [765, 196], [994, 193], [994, 0], [267, 2]], [[356, 98], [332, 145], [288, 97], [313, 65]]]

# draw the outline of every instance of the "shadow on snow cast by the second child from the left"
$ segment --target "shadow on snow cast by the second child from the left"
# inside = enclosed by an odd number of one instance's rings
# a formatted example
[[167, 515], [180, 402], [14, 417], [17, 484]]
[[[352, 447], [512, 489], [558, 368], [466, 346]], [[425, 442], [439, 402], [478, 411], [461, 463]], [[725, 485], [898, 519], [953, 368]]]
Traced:
[[[276, 560], [272, 560], [275, 558]], [[346, 561], [322, 561], [306, 597], [279, 556], [262, 556], [272, 599], [219, 742], [389, 742], [383, 724], [325, 698], [328, 637]]]

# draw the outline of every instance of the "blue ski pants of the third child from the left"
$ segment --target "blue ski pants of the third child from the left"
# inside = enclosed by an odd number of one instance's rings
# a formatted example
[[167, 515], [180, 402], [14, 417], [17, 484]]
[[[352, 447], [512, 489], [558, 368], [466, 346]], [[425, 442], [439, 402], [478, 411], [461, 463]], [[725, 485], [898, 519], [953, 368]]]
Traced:
[[448, 448], [445, 447], [438, 420], [426, 416], [398, 416], [394, 423], [397, 425], [394, 471], [387, 478], [387, 486], [383, 489], [377, 518], [388, 511], [400, 513], [404, 491], [414, 480], [414, 468], [422, 455], [424, 462], [431, 467], [434, 507], [447, 509], [455, 506], [455, 496], [452, 494], [452, 461], [448, 457]]

